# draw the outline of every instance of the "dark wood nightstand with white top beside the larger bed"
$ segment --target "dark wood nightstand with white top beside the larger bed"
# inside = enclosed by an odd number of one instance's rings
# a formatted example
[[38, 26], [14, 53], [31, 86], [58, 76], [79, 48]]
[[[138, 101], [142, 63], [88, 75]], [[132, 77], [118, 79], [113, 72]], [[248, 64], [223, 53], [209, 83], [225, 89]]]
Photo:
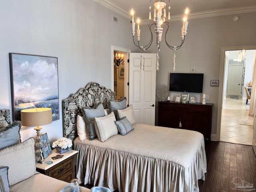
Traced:
[[[53, 160], [52, 157], [60, 155], [56, 153], [56, 149], [53, 149], [52, 154], [44, 160], [45, 163], [36, 163], [36, 170], [50, 177], [70, 182], [76, 178], [75, 157], [77, 154], [78, 151], [69, 150], [61, 154], [64, 155], [62, 158]], [[46, 164], [47, 161], [52, 161], [52, 164]]]

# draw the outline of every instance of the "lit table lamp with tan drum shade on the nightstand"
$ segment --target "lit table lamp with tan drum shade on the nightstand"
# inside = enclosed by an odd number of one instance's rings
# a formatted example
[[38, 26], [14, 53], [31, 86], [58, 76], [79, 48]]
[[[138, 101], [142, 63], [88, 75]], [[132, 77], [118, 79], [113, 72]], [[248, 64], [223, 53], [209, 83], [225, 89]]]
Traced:
[[52, 122], [51, 108], [30, 108], [20, 111], [22, 126], [32, 127], [36, 126], [36, 163], [44, 163], [44, 157], [41, 149], [40, 130], [42, 125], [47, 125]]

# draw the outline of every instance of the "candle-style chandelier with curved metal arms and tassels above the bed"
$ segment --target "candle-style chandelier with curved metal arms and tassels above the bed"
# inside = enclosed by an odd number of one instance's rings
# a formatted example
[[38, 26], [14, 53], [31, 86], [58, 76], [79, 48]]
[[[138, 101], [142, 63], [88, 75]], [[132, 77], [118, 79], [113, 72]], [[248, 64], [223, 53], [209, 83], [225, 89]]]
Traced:
[[[169, 6], [168, 6], [168, 20], [170, 20], [170, 0], [169, 0]], [[151, 20], [151, 0], [150, 0], [150, 6], [149, 6], [149, 20]], [[162, 11], [164, 12], [163, 16], [162, 16]], [[134, 10], [132, 9], [131, 11], [131, 14], [132, 14], [132, 22], [131, 22], [131, 26], [132, 26], [132, 39], [133, 39], [133, 42], [134, 42], [134, 34], [135, 34], [135, 22], [134, 22]], [[140, 45], [140, 18], [138, 18], [137, 20], [137, 40], [138, 40], [138, 44], [136, 44], [134, 42], [134, 44], [140, 48], [140, 50], [147, 50], [152, 42], [153, 42], [153, 32], [152, 32], [152, 26], [155, 26], [154, 28], [154, 31], [156, 33], [156, 47], [157, 47], [157, 70], [159, 70], [159, 56], [158, 56], [158, 51], [160, 51], [160, 42], [162, 41], [162, 33], [163, 33], [163, 26], [166, 25], [167, 26], [167, 29], [166, 29], [166, 32], [165, 32], [165, 36], [164, 36], [164, 39], [165, 39], [165, 42], [166, 42], [166, 45], [172, 49], [172, 50], [178, 50], [181, 48], [182, 44], [184, 43], [185, 41], [185, 36], [187, 34], [187, 28], [188, 28], [188, 8], [186, 8], [186, 11], [185, 11], [185, 16], [183, 18], [183, 26], [181, 28], [181, 43], [179, 46], [171, 46], [170, 44], [168, 44], [168, 42], [166, 41], [166, 33], [168, 32], [169, 30], [169, 22], [166, 22], [166, 3], [165, 3], [165, 0], [155, 0], [155, 3], [154, 3], [154, 18], [153, 18], [153, 21], [151, 21], [149, 24], [148, 24], [148, 28], [150, 30], [150, 33], [151, 33], [151, 39], [150, 41], [148, 42], [148, 44], [146, 46], [141, 46]], [[174, 54], [174, 57], [173, 57], [173, 71], [175, 70], [175, 54]]]

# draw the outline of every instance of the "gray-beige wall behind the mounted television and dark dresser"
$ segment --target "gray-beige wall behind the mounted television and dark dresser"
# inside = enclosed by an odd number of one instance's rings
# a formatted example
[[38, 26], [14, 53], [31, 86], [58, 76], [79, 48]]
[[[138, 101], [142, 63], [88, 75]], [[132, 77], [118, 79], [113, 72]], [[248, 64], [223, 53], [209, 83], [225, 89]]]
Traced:
[[[239, 16], [237, 22], [234, 16]], [[211, 87], [210, 80], [218, 80], [220, 75], [220, 53], [222, 47], [256, 45], [256, 13], [217, 16], [188, 20], [188, 33], [184, 45], [176, 51], [175, 72], [204, 73], [203, 92], [209, 95], [208, 103], [214, 103], [212, 116], [212, 134], [216, 134], [218, 112], [218, 87]], [[140, 27], [146, 30], [147, 26]], [[182, 22], [170, 23], [168, 42], [178, 45]], [[149, 35], [149, 34], [148, 34]], [[143, 34], [141, 34], [143, 38]], [[152, 48], [150, 49], [152, 51]], [[174, 52], [162, 42], [159, 56], [160, 69], [156, 73], [156, 88], [161, 84], [169, 85]], [[172, 94], [172, 93], [171, 93]], [[202, 102], [202, 95], [198, 96]], [[173, 97], [170, 97], [171, 99]], [[157, 117], [156, 117], [157, 119]]]

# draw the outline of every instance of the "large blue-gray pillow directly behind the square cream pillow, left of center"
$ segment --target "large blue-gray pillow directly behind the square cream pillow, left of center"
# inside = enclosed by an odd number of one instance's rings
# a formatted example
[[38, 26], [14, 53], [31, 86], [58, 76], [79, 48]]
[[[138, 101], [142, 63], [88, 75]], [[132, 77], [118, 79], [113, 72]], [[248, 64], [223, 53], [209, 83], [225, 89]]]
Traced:
[[84, 118], [87, 125], [87, 130], [89, 134], [89, 139], [94, 140], [97, 138], [97, 134], [94, 126], [94, 118], [105, 116], [105, 111], [102, 103], [100, 103], [96, 108], [84, 108]]

